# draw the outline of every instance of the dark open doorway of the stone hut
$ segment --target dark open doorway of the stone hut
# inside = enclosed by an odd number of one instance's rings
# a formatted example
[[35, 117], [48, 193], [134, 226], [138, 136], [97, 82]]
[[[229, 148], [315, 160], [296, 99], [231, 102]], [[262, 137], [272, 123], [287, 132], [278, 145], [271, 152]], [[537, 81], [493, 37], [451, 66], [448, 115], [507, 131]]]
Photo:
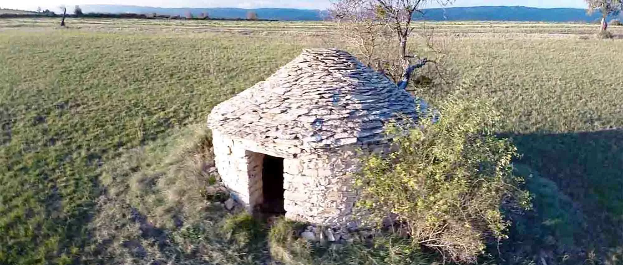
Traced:
[[283, 191], [283, 158], [265, 155], [262, 162], [262, 212], [285, 215]]

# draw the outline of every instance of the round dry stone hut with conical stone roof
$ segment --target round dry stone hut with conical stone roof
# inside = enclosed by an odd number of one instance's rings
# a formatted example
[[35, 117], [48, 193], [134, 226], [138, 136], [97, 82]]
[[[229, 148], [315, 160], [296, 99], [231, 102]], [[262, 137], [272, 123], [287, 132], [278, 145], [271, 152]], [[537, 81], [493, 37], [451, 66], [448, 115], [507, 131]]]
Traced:
[[309, 49], [212, 109], [216, 167], [250, 211], [318, 224], [350, 221], [360, 151], [388, 148], [384, 124], [416, 100], [347, 52]]

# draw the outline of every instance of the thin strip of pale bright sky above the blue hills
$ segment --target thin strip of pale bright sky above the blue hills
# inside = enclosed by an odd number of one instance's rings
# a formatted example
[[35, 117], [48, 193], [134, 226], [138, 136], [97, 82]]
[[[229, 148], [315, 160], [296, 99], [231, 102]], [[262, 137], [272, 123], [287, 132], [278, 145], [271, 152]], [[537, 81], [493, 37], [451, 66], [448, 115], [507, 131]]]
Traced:
[[[436, 2], [436, 1], [432, 1]], [[330, 0], [2, 0], [0, 7], [35, 10], [37, 7], [55, 10], [60, 4], [125, 4], [157, 7], [292, 7], [324, 9]], [[437, 7], [430, 4], [429, 7]], [[530, 6], [586, 8], [584, 0], [456, 0], [452, 6]]]

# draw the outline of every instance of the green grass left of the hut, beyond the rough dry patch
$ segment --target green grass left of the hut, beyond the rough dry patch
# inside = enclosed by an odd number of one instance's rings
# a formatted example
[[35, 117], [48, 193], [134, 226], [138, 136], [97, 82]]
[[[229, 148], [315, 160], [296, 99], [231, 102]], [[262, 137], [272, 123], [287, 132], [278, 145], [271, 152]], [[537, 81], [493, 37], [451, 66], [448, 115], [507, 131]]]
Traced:
[[201, 123], [299, 50], [211, 34], [0, 33], [0, 263], [75, 258], [101, 165]]

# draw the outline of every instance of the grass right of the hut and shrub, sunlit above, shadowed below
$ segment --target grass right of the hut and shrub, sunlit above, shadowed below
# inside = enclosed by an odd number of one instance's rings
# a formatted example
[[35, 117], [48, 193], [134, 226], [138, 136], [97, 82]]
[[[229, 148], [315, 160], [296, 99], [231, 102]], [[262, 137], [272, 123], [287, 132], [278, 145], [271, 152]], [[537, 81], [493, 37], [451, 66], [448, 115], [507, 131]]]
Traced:
[[[452, 71], [473, 84], [465, 94], [502, 111], [500, 134], [515, 141], [518, 162], [573, 200], [584, 222], [571, 232], [574, 245], [602, 254], [622, 246], [623, 42], [480, 37], [444, 44]], [[416, 93], [433, 101], [445, 95], [440, 88]], [[567, 264], [586, 258], [574, 253]]]

